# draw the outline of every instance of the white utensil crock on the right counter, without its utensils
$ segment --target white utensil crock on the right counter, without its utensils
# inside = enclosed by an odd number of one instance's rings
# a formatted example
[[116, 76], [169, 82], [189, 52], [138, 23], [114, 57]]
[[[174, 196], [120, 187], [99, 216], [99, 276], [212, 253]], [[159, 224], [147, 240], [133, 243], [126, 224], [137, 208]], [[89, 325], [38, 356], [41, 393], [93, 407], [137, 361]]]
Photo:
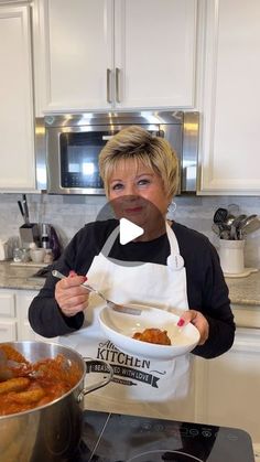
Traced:
[[219, 258], [223, 272], [237, 275], [245, 270], [245, 240], [219, 239]]

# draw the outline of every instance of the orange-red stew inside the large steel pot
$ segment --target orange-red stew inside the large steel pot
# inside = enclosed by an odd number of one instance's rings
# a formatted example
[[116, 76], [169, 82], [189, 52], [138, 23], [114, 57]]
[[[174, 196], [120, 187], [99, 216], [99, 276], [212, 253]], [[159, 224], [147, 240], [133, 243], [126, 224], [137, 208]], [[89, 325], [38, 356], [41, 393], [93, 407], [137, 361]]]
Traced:
[[0, 382], [0, 416], [46, 405], [69, 391], [82, 377], [79, 366], [62, 354], [30, 363], [12, 346], [1, 344], [0, 355], [6, 358], [7, 376]]

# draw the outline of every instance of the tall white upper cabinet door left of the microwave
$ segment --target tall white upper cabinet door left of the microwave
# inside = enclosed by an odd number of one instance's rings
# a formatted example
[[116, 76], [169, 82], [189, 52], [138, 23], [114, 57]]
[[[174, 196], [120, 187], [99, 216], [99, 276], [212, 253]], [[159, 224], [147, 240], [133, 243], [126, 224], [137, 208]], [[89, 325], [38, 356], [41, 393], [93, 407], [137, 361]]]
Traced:
[[30, 7], [0, 6], [0, 190], [35, 189]]

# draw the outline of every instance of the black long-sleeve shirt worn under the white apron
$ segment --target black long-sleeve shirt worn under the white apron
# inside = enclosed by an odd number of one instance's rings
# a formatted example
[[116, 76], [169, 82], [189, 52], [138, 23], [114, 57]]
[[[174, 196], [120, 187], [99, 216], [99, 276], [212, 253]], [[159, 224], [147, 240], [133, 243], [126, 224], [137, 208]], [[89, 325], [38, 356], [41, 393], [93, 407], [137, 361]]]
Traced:
[[[93, 259], [97, 256], [112, 229], [118, 225], [115, 219], [87, 224], [71, 240], [55, 269], [64, 275], [69, 270], [86, 275]], [[187, 299], [189, 309], [201, 311], [209, 323], [209, 336], [204, 345], [193, 353], [205, 358], [216, 357], [228, 351], [234, 342], [235, 323], [230, 310], [226, 286], [216, 249], [207, 237], [177, 223], [172, 228], [184, 258], [187, 278]], [[144, 261], [166, 265], [170, 244], [166, 235], [151, 241], [137, 241], [120, 245], [116, 239], [109, 257], [124, 261]], [[174, 275], [173, 275], [174, 277]], [[50, 275], [39, 296], [29, 309], [29, 321], [40, 335], [53, 337], [79, 330], [84, 314], [66, 318], [54, 298], [57, 280]]]

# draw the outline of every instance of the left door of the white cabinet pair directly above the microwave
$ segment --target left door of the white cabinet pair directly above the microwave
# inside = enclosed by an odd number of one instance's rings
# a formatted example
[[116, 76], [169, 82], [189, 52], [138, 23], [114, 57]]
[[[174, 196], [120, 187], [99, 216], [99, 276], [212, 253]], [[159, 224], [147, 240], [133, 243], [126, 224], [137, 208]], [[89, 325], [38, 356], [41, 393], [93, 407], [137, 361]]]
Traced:
[[37, 115], [110, 107], [112, 0], [37, 0], [34, 25]]

